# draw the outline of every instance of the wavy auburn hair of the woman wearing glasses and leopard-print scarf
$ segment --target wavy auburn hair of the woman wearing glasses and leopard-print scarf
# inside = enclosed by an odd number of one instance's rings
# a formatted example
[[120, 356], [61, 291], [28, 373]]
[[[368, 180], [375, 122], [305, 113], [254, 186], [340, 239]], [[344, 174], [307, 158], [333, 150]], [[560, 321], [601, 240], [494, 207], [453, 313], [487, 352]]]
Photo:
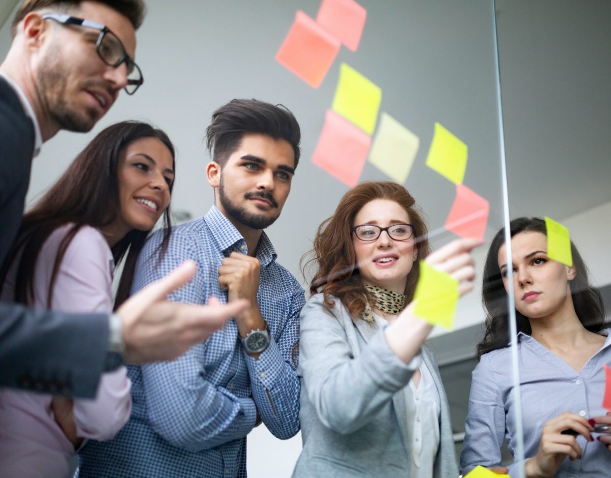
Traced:
[[337, 297], [354, 320], [365, 310], [366, 300], [371, 302], [373, 297], [369, 297], [356, 264], [352, 228], [354, 217], [360, 209], [375, 199], [395, 201], [409, 214], [409, 222], [414, 226], [414, 242], [417, 243], [418, 255], [405, 286], [404, 294], [408, 296], [408, 302], [414, 297], [420, 274], [419, 261], [430, 253], [422, 211], [401, 184], [390, 181], [367, 181], [346, 192], [334, 214], [318, 226], [314, 247], [304, 256], [304, 258], [309, 256], [309, 259], [303, 269], [305, 272], [310, 264], [316, 268], [310, 283], [310, 294], [317, 294], [322, 290], [324, 303], [329, 307], [333, 305], [330, 296]]

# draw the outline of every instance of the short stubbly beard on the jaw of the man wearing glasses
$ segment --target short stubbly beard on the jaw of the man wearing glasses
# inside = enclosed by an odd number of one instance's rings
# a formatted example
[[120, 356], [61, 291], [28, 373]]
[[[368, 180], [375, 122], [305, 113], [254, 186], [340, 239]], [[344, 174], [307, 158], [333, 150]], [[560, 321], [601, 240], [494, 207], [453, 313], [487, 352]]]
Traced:
[[46, 57], [37, 72], [43, 106], [51, 120], [59, 129], [67, 131], [87, 132], [97, 122], [97, 113], [80, 115], [69, 103], [70, 95], [67, 89], [67, 71], [60, 59]]

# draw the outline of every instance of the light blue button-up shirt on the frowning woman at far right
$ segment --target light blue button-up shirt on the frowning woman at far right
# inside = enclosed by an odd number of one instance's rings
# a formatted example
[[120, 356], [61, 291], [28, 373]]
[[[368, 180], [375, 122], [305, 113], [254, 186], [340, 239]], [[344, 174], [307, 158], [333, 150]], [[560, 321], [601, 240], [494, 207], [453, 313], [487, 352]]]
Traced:
[[[611, 364], [611, 337], [577, 372], [560, 357], [524, 333], [518, 334], [518, 361], [525, 458], [536, 455], [543, 426], [565, 411], [591, 418], [607, 414], [602, 408], [605, 390], [603, 365]], [[469, 415], [465, 424], [461, 472], [476, 465], [496, 466], [500, 463], [503, 438], [512, 455], [516, 451], [514, 421], [514, 387], [511, 380], [511, 349], [493, 350], [481, 356], [473, 371], [469, 396]], [[596, 440], [589, 442], [577, 436], [582, 458], [571, 462], [566, 458], [557, 478], [611, 476], [611, 452]], [[518, 467], [510, 465], [510, 476], [518, 476]]]

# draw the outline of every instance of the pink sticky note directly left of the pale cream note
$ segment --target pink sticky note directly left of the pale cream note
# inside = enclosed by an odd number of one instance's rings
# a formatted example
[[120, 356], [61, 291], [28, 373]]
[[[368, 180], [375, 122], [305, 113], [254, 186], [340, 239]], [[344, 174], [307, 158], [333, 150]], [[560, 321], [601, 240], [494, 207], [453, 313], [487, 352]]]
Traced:
[[359, 181], [370, 147], [371, 137], [366, 132], [329, 109], [312, 162], [353, 187]]

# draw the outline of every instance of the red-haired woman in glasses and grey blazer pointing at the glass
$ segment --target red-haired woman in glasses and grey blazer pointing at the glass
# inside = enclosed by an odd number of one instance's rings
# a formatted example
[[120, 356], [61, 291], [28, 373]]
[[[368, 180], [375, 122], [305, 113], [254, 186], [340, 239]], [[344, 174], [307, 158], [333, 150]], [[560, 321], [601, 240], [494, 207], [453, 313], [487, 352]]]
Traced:
[[[295, 477], [455, 477], [452, 425], [433, 328], [414, 316], [419, 261], [473, 287], [459, 239], [430, 253], [426, 225], [400, 184], [349, 190], [318, 228], [313, 294], [301, 311], [298, 375], [304, 448]], [[411, 303], [411, 304], [410, 304]]]

